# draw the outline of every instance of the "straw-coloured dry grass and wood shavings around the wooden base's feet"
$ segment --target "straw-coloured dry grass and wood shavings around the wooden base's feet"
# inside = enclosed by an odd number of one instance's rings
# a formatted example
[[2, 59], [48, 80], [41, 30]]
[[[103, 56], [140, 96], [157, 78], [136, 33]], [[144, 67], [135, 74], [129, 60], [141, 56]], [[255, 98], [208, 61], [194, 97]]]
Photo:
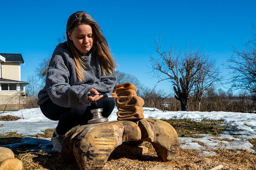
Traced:
[[[149, 142], [144, 146], [149, 153], [130, 156], [112, 153], [103, 170], [146, 170], [157, 164], [170, 166], [173, 170], [209, 170], [222, 164], [222, 170], [256, 170], [256, 154], [245, 151], [219, 149], [216, 156], [200, 157], [200, 151], [180, 149], [173, 161], [162, 162], [158, 159]], [[212, 151], [210, 151], [212, 152]], [[79, 170], [77, 165], [65, 165], [59, 153], [14, 151], [15, 157], [22, 160], [23, 170]]]

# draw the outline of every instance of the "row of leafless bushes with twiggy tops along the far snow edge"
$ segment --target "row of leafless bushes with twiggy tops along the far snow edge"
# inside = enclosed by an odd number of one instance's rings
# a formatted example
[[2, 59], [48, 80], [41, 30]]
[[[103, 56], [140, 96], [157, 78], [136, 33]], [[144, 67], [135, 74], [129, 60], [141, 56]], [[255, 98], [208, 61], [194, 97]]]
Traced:
[[[181, 103], [174, 97], [170, 97], [170, 94], [166, 96], [163, 90], [147, 87], [142, 88], [142, 94], [140, 97], [144, 100], [143, 107], [155, 107], [170, 111], [181, 110]], [[189, 98], [188, 110], [199, 111], [193, 95]], [[200, 111], [256, 113], [256, 96], [250, 96], [247, 93], [234, 95], [232, 91], [218, 90], [218, 92], [215, 92], [213, 89], [209, 89], [202, 97]]]

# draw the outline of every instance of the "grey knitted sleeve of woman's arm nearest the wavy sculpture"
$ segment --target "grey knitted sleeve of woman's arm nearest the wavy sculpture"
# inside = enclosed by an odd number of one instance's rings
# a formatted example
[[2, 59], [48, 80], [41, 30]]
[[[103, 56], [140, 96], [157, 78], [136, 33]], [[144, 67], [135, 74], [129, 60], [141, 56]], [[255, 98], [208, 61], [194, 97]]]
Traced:
[[100, 83], [96, 90], [100, 93], [109, 93], [114, 89], [114, 85], [116, 83], [116, 71], [113, 70], [112, 73], [104, 76], [101, 76]]

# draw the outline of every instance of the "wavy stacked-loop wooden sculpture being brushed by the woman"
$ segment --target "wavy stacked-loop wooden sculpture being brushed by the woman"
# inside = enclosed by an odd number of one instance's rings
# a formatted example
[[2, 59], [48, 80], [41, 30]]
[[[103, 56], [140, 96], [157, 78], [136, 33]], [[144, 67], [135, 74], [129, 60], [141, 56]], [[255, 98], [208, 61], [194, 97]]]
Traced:
[[118, 84], [114, 88], [117, 94], [117, 120], [143, 119], [144, 100], [136, 95], [137, 88], [132, 83]]

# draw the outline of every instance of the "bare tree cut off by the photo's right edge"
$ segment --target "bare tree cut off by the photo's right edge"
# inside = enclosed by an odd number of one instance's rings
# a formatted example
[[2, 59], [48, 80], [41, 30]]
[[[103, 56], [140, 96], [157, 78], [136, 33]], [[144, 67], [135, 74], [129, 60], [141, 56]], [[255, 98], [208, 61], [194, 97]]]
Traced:
[[245, 44], [245, 50], [233, 48], [235, 55], [229, 58], [228, 68], [232, 70], [232, 87], [256, 93], [256, 29], [253, 28], [253, 38]]

